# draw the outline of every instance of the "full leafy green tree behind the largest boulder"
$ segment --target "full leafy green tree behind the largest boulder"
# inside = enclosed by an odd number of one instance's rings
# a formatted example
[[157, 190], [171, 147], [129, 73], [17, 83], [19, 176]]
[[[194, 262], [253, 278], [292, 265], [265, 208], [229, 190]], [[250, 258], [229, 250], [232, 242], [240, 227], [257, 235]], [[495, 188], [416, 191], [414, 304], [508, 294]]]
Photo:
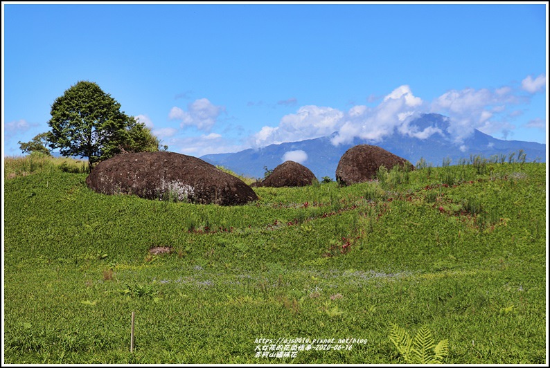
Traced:
[[62, 156], [88, 158], [89, 170], [125, 151], [158, 151], [150, 129], [120, 109], [98, 84], [78, 82], [51, 106], [50, 147], [60, 148]]

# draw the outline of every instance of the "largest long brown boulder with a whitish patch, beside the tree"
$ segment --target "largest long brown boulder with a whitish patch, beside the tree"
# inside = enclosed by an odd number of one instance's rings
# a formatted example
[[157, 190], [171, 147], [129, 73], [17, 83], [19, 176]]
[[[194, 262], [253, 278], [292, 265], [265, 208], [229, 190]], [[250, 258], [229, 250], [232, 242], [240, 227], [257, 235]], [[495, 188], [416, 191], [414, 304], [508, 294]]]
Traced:
[[98, 163], [86, 178], [104, 194], [135, 194], [190, 203], [242, 205], [256, 201], [254, 190], [200, 158], [174, 152], [121, 154]]

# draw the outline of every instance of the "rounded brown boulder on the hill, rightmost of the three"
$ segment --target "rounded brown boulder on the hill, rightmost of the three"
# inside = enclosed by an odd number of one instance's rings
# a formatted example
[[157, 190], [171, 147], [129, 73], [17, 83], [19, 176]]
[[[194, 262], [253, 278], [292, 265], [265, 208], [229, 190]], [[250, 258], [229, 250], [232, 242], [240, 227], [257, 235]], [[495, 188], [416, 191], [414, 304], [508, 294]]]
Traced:
[[336, 181], [343, 185], [362, 183], [375, 178], [376, 171], [384, 165], [391, 170], [395, 165], [414, 166], [405, 160], [378, 146], [357, 145], [341, 156], [336, 168]]

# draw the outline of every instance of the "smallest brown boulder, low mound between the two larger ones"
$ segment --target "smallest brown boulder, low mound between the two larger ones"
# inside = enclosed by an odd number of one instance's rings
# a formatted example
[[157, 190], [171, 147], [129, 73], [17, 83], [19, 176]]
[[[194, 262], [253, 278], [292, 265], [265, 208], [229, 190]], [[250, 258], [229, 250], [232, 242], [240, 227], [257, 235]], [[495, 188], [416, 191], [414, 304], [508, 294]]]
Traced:
[[285, 161], [273, 169], [273, 172], [263, 181], [254, 183], [256, 187], [303, 187], [312, 185], [317, 178], [310, 169], [295, 163]]

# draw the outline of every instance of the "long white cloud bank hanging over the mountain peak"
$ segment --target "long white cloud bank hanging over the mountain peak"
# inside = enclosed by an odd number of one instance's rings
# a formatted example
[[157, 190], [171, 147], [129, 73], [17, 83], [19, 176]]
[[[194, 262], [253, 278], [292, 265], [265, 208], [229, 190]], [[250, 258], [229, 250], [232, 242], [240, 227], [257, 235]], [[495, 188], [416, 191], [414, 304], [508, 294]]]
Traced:
[[[535, 80], [526, 78], [523, 88], [531, 91], [542, 89], [545, 84], [542, 77]], [[300, 107], [296, 113], [283, 116], [278, 125], [262, 127], [249, 136], [248, 144], [251, 147], [265, 147], [334, 133], [331, 138], [333, 145], [350, 143], [354, 138], [375, 143], [398, 132], [422, 140], [434, 134], [451, 136], [454, 143], [460, 146], [474, 129], [486, 134], [512, 134], [515, 125], [510, 121], [522, 113], [514, 105], [529, 102], [530, 98], [517, 87], [501, 86], [497, 89], [453, 89], [432, 102], [425, 102], [414, 95], [408, 85], [402, 85], [378, 98], [379, 103], [375, 107], [355, 105], [348, 111], [315, 105]], [[446, 127], [417, 127], [411, 124], [423, 113], [447, 116]], [[527, 127], [539, 125], [540, 122], [533, 121]]]

